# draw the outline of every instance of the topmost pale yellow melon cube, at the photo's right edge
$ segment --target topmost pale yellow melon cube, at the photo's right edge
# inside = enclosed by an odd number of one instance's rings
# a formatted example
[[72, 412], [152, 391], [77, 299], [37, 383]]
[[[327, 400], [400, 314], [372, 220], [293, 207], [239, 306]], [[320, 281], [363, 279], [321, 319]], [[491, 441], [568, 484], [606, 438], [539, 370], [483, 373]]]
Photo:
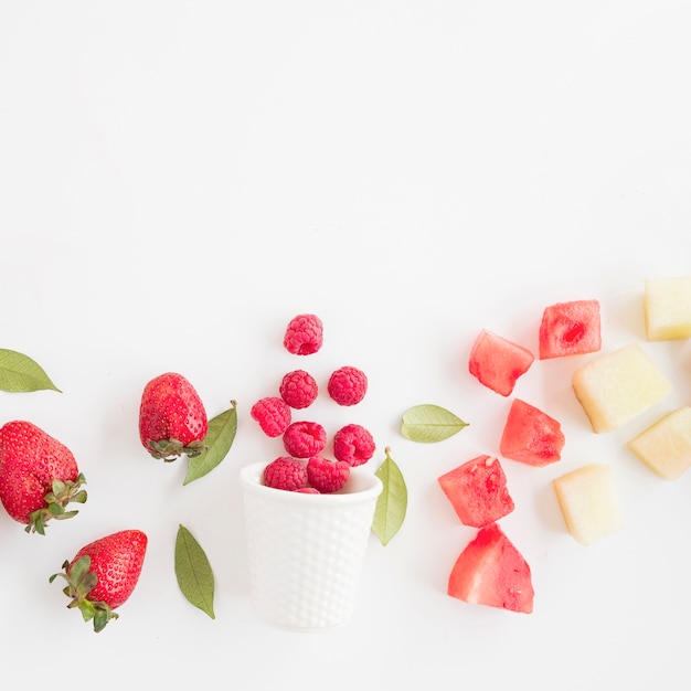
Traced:
[[649, 278], [644, 294], [649, 341], [691, 337], [691, 276]]

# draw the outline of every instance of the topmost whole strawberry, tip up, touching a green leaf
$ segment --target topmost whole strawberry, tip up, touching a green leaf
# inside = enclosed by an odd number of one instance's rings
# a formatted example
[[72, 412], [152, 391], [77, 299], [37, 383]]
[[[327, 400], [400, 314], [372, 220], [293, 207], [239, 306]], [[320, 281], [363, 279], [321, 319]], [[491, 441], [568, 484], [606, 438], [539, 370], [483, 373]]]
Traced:
[[190, 382], [176, 372], [152, 379], [139, 406], [139, 437], [143, 447], [163, 460], [202, 453], [209, 429], [206, 411]]

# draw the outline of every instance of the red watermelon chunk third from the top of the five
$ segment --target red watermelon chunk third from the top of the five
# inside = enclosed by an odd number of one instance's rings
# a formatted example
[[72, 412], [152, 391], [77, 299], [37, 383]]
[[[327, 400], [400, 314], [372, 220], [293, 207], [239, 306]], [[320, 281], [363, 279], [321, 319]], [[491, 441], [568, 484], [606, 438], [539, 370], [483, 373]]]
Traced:
[[529, 466], [546, 466], [561, 459], [564, 443], [564, 433], [556, 419], [525, 401], [513, 400], [499, 443], [504, 458]]

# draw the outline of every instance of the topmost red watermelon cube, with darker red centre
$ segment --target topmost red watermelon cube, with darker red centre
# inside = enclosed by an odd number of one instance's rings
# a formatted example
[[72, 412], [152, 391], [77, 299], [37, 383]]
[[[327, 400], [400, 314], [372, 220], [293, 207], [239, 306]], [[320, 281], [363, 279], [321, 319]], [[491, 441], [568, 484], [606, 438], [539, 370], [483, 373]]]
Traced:
[[539, 334], [541, 360], [582, 355], [602, 348], [599, 302], [556, 302], [542, 313]]

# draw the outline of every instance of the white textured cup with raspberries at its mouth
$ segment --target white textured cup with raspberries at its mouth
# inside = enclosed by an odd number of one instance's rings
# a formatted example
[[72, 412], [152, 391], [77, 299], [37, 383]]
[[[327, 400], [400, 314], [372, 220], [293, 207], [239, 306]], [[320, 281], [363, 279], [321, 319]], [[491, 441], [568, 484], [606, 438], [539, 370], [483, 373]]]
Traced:
[[262, 483], [266, 464], [241, 470], [255, 612], [273, 626], [342, 626], [355, 604], [381, 480], [353, 468], [333, 495], [289, 492]]

